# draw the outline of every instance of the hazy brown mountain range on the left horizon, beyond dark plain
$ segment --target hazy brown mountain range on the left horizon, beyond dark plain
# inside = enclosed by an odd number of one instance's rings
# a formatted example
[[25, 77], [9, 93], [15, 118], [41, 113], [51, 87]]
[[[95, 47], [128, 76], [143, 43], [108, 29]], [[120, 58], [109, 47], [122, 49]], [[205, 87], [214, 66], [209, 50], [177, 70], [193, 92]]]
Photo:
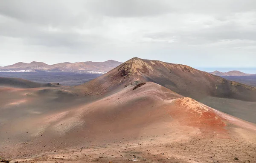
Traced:
[[0, 67], [0, 71], [77, 71], [84, 73], [104, 74], [120, 64], [122, 63], [115, 60], [108, 60], [105, 62], [64, 62], [54, 65], [34, 61], [31, 63], [19, 62], [10, 66]]

